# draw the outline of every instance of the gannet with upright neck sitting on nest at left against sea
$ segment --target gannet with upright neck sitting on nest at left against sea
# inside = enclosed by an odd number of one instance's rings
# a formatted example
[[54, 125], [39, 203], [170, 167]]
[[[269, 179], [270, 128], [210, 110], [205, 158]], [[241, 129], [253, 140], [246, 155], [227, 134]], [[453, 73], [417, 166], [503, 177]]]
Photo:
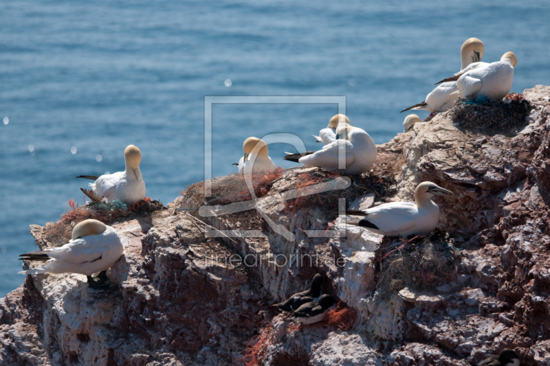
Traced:
[[124, 150], [126, 170], [102, 176], [80, 175], [76, 178], [87, 178], [96, 181], [90, 183], [94, 192], [82, 190], [92, 201], [120, 200], [126, 205], [133, 205], [145, 198], [145, 182], [140, 172], [142, 152], [136, 146], [130, 145]]

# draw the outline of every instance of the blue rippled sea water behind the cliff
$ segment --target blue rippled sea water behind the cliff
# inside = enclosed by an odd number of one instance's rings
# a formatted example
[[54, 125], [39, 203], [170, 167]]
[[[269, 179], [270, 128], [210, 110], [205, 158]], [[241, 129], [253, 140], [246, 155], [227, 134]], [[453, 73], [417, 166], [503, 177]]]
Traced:
[[[351, 123], [382, 144], [401, 109], [459, 71], [467, 38], [484, 61], [516, 54], [511, 91], [550, 84], [548, 19], [548, 1], [0, 1], [0, 297], [36, 250], [28, 225], [83, 201], [74, 176], [124, 169], [127, 145], [151, 198], [203, 180], [205, 96], [345, 96]], [[214, 104], [212, 175], [235, 172], [251, 135], [317, 149], [311, 135], [336, 113]], [[277, 165], [293, 165], [289, 149], [270, 146]]]

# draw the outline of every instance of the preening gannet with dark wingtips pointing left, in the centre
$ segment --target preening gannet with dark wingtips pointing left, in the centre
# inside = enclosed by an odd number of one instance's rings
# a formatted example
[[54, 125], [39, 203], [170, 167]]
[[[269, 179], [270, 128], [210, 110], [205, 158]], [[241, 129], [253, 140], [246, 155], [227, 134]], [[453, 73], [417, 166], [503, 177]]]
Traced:
[[[338, 152], [342, 151], [346, 168], [338, 168]], [[364, 130], [349, 125], [340, 125], [336, 133], [336, 141], [325, 145], [316, 152], [307, 155], [287, 155], [283, 159], [295, 161], [305, 166], [339, 172], [340, 174], [361, 174], [369, 171], [376, 160], [377, 148], [373, 139]]]

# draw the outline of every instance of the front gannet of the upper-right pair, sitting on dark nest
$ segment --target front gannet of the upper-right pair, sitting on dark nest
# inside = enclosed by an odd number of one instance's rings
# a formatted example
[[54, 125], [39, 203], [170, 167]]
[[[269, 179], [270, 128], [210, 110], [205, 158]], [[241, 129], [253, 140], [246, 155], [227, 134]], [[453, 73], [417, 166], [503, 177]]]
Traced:
[[452, 78], [440, 82], [445, 84], [456, 80], [460, 98], [479, 94], [489, 100], [501, 100], [510, 92], [511, 84], [514, 82], [514, 67], [517, 63], [518, 59], [514, 52], [506, 52], [500, 61], [473, 63]]

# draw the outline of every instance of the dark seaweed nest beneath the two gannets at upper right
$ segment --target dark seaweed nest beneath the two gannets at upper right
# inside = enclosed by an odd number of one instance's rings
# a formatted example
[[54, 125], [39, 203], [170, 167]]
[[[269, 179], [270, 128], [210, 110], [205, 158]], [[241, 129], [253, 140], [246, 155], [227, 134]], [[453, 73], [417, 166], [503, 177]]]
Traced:
[[531, 111], [531, 103], [516, 95], [510, 99], [476, 104], [472, 100], [459, 99], [451, 110], [456, 126], [469, 130], [494, 130], [496, 133], [512, 132], [524, 126], [525, 117]]

